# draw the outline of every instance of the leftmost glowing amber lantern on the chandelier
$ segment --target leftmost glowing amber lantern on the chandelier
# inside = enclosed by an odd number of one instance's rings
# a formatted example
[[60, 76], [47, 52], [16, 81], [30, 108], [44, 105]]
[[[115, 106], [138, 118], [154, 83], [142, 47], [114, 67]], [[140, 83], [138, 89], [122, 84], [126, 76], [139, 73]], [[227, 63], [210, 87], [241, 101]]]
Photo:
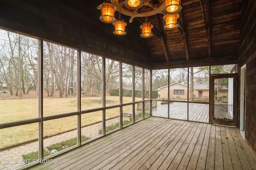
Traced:
[[113, 23], [114, 21], [116, 21], [116, 18], [115, 18], [116, 7], [111, 2], [105, 1], [103, 2], [103, 4], [99, 5], [97, 8], [101, 10], [100, 21], [105, 23]]

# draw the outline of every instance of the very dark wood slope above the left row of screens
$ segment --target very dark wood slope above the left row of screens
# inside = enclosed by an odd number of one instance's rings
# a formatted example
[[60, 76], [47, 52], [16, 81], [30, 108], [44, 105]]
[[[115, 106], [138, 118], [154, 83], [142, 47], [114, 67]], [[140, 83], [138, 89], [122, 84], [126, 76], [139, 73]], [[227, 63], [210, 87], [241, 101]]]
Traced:
[[140, 30], [129, 24], [129, 36], [114, 35], [114, 26], [99, 20], [100, 10], [92, 2], [0, 0], [0, 27], [151, 69]]

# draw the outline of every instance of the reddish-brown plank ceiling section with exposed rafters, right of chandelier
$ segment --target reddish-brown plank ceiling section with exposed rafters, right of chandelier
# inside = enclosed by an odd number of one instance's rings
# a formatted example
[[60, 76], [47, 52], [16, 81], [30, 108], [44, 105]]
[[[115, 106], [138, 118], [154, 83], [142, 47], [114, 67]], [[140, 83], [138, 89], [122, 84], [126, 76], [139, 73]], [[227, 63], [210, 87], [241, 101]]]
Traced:
[[163, 14], [150, 16], [156, 36], [147, 39], [152, 63], [237, 57], [242, 0], [182, 0], [179, 27], [163, 29]]

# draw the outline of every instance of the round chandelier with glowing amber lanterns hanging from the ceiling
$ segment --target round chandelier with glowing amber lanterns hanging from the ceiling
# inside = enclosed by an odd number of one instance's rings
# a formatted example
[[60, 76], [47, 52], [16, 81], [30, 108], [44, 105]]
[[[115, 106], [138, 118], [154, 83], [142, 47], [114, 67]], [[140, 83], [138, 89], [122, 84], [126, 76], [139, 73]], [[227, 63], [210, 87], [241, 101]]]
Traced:
[[[146, 17], [145, 22], [140, 25], [142, 38], [153, 36], [153, 25], [147, 21], [149, 16], [164, 14], [164, 29], [176, 29], [179, 27], [177, 19], [178, 12], [182, 9], [181, 0], [106, 0], [97, 9], [101, 11], [100, 21], [112, 23], [113, 33], [126, 35], [126, 22], [120, 18], [121, 14], [130, 16], [129, 22], [136, 17]], [[116, 20], [115, 12], [119, 12], [119, 19]]]

